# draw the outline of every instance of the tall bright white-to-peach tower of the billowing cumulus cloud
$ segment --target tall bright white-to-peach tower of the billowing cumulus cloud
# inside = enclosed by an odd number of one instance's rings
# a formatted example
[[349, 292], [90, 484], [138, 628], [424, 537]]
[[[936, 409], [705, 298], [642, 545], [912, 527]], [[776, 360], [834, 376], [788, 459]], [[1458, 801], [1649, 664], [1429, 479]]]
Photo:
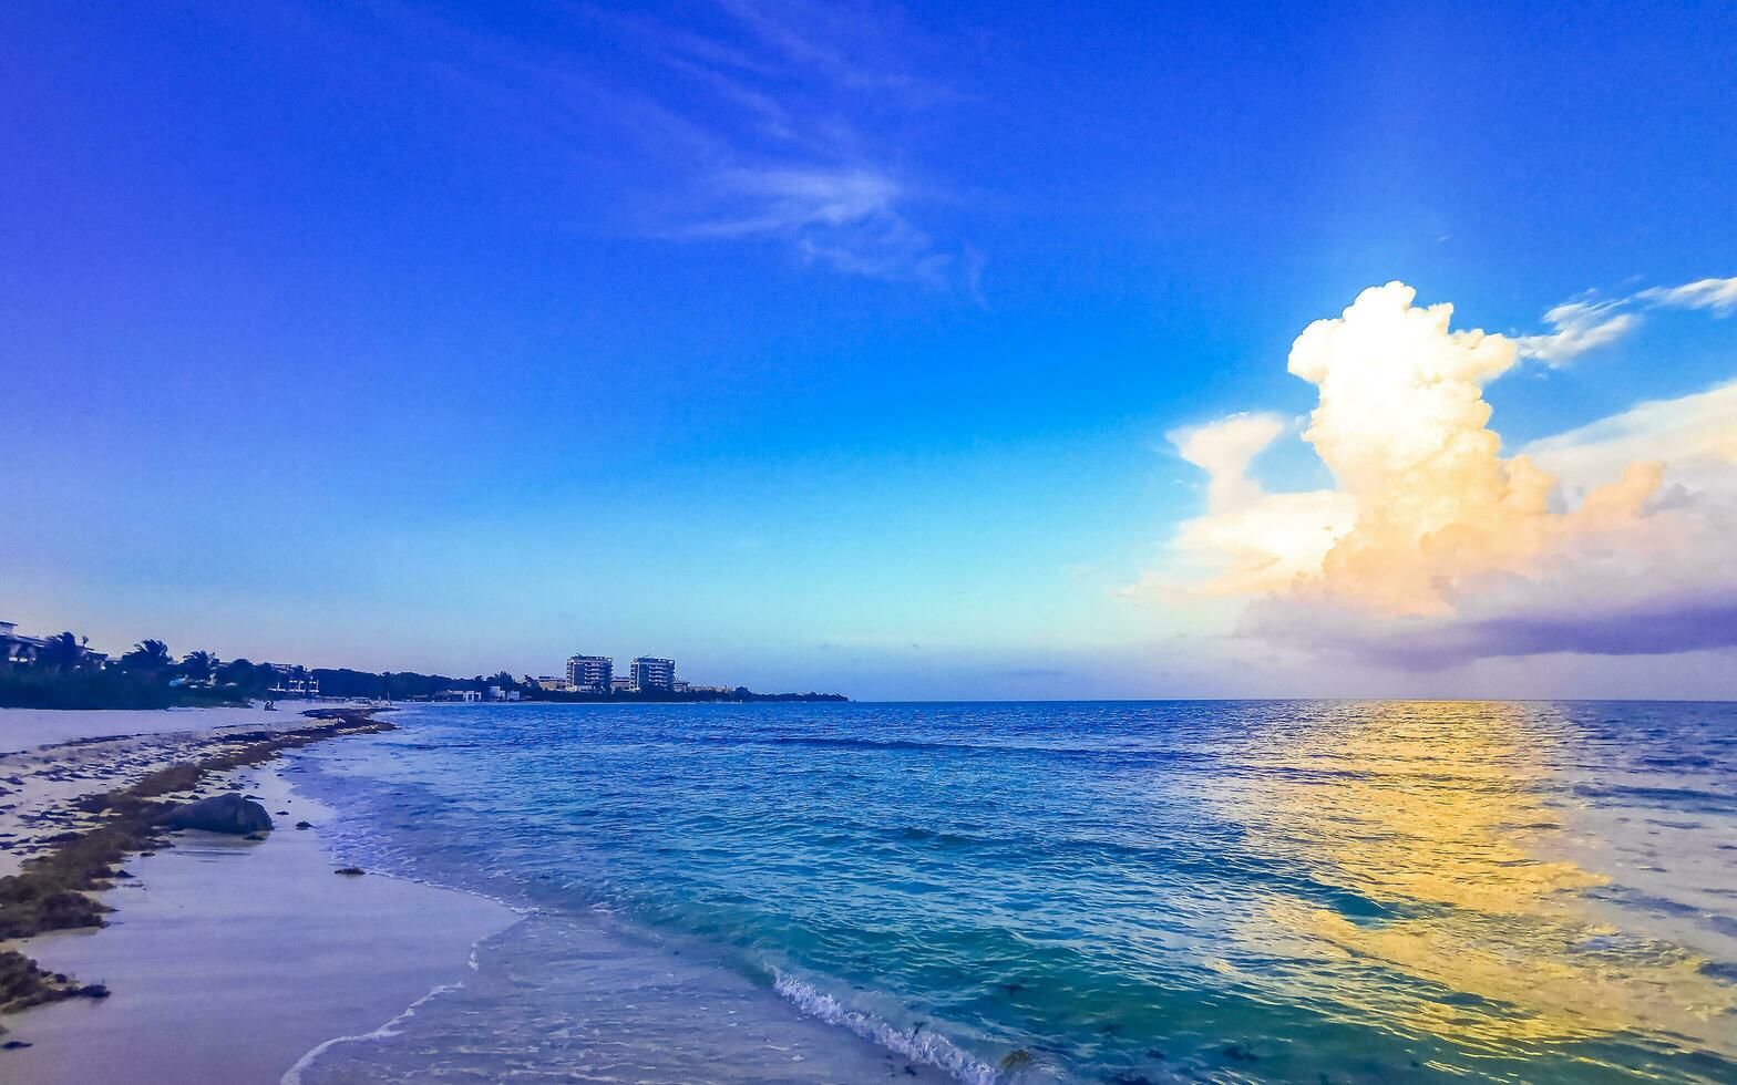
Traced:
[[1403, 283], [1365, 290], [1310, 325], [1289, 366], [1320, 389], [1303, 439], [1357, 505], [1294, 590], [1395, 616], [1450, 609], [1456, 578], [1523, 566], [1570, 523], [1548, 510], [1551, 479], [1501, 458], [1487, 425], [1482, 385], [1515, 365], [1515, 344], [1452, 332], [1452, 306], [1414, 297]]

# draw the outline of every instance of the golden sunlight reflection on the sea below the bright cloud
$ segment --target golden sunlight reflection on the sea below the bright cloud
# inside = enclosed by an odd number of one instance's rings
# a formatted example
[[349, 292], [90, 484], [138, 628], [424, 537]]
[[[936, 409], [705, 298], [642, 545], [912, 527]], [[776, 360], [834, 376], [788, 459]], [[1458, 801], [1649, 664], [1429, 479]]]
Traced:
[[1563, 858], [1586, 849], [1560, 722], [1544, 705], [1348, 703], [1251, 746], [1230, 793], [1249, 847], [1351, 894], [1277, 896], [1237, 932], [1308, 962], [1277, 995], [1473, 1052], [1622, 1033], [1737, 1054], [1737, 990], [1641, 910], [1588, 898], [1612, 875]]

